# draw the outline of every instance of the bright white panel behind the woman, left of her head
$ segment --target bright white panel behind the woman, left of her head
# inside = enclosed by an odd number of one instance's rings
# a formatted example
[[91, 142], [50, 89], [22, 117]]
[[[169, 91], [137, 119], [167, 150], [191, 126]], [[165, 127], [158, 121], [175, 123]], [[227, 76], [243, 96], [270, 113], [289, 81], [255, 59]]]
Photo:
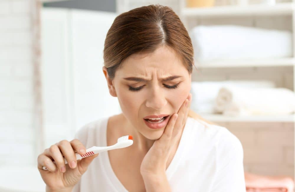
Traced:
[[45, 147], [72, 140], [84, 124], [120, 113], [102, 72], [106, 33], [116, 14], [42, 9]]

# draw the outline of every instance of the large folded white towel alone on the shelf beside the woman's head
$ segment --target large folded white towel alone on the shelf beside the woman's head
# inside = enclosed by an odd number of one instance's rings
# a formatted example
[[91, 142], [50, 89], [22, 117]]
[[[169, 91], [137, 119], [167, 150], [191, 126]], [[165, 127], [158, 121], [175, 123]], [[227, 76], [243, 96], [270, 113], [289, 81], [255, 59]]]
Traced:
[[292, 56], [290, 31], [238, 25], [196, 26], [190, 31], [196, 61]]

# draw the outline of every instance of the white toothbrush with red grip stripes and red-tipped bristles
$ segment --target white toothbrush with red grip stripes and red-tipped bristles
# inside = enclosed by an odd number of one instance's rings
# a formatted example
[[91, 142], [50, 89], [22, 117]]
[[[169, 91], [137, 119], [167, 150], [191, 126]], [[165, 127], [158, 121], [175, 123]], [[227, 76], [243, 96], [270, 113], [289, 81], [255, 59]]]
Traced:
[[[86, 153], [84, 155], [80, 155], [79, 153], [75, 153], [77, 160], [83, 159], [84, 157], [89, 157], [91, 155], [95, 155], [97, 153], [100, 152], [104, 152], [104, 151], [108, 151], [108, 150], [113, 150], [113, 149], [121, 149], [124, 147], [129, 147], [130, 145], [133, 144], [133, 140], [132, 140], [132, 136], [131, 135], [125, 135], [122, 137], [119, 137], [119, 139], [117, 140], [117, 143], [111, 146], [106, 146], [106, 147], [90, 147], [88, 149], [86, 149]], [[65, 164], [67, 164], [67, 160], [65, 158], [63, 158], [65, 160]], [[53, 163], [55, 163], [55, 161], [53, 161]], [[47, 170], [47, 168], [45, 166], [43, 166], [43, 170]]]

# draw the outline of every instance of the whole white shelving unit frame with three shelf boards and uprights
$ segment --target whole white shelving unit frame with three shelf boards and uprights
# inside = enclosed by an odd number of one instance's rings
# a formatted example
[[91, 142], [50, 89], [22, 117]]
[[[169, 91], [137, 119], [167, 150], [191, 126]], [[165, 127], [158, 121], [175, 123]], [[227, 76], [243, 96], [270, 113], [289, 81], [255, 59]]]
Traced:
[[[245, 16], [292, 16], [292, 31], [295, 31], [295, 3], [277, 3], [276, 5], [252, 4], [247, 6], [228, 5], [228, 6], [214, 6], [202, 8], [188, 8], [186, 7], [186, 0], [179, 1], [179, 17], [184, 23], [185, 27], [189, 29], [187, 19], [196, 18], [216, 19], [222, 17], [245, 17]], [[293, 45], [295, 45], [295, 37], [293, 33]], [[293, 55], [295, 51], [293, 50]], [[197, 62], [197, 68], [236, 68], [236, 67], [293, 67], [293, 83], [295, 90], [295, 58], [267, 58], [267, 59], [230, 59], [230, 60], [210, 60], [204, 62]], [[202, 114], [200, 114], [202, 115]], [[203, 117], [215, 122], [295, 122], [294, 115], [287, 116], [246, 116], [246, 117], [230, 117], [219, 114], [203, 114]]]

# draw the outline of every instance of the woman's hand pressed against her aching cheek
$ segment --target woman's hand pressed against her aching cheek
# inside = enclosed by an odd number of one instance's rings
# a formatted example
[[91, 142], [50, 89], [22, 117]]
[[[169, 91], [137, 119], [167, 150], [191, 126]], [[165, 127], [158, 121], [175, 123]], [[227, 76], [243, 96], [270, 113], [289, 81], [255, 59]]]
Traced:
[[190, 104], [191, 93], [181, 105], [178, 113], [171, 116], [162, 136], [155, 140], [153, 146], [143, 158], [140, 166], [142, 176], [161, 177], [165, 174], [171, 150], [181, 138], [182, 128], [186, 123]]

